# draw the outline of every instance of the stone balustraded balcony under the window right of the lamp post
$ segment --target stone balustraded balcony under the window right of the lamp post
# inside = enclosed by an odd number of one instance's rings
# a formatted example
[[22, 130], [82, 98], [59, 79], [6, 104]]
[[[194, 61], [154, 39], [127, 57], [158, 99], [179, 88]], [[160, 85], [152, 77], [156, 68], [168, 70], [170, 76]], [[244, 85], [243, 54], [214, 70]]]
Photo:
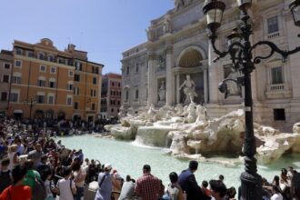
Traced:
[[284, 84], [275, 84], [275, 85], [266, 85], [267, 98], [290, 98], [292, 96], [292, 91], [288, 83]]

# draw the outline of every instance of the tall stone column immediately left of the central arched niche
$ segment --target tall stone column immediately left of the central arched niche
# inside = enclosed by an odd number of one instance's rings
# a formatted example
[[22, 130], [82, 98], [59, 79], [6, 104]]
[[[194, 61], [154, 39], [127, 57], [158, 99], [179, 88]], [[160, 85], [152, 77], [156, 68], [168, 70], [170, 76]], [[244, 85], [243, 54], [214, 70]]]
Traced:
[[173, 75], [172, 75], [172, 60], [173, 60], [173, 46], [168, 45], [165, 49], [165, 65], [166, 65], [166, 77], [165, 77], [165, 105], [173, 105]]

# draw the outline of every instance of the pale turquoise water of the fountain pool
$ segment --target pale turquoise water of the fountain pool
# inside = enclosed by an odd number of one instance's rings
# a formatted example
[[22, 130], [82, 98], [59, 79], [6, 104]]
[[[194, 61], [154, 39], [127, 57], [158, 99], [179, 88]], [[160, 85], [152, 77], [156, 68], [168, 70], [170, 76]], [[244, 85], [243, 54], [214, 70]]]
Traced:
[[[70, 149], [82, 149], [85, 158], [94, 158], [102, 164], [110, 163], [118, 173], [125, 177], [131, 175], [137, 179], [142, 175], [142, 167], [151, 165], [152, 174], [169, 183], [170, 172], [179, 174], [187, 168], [187, 160], [178, 160], [170, 155], [165, 155], [160, 148], [147, 148], [136, 146], [131, 142], [116, 141], [112, 139], [96, 138], [93, 135], [81, 135], [70, 137], [59, 137], [63, 145]], [[285, 155], [272, 165], [258, 166], [258, 174], [265, 177], [269, 182], [274, 175], [279, 175], [283, 167], [292, 165], [300, 171], [300, 155]], [[228, 166], [212, 163], [199, 163], [195, 173], [196, 180], [200, 185], [203, 180], [217, 179], [218, 175], [225, 176], [225, 185], [240, 185], [239, 176], [244, 170], [244, 165]]]

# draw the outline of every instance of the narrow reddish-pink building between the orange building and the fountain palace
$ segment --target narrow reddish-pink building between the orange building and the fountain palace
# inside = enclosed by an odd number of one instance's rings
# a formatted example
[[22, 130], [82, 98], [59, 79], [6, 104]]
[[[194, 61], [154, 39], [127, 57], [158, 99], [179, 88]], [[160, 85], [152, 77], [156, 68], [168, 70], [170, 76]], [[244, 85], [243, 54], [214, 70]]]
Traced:
[[120, 112], [122, 96], [122, 75], [109, 73], [102, 80], [101, 117], [117, 117]]

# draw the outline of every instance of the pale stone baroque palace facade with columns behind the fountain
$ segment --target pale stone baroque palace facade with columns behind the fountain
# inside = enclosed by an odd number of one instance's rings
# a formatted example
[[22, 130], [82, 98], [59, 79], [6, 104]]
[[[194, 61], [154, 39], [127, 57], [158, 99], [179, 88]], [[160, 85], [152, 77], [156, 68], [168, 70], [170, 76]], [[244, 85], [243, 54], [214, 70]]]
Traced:
[[[216, 47], [226, 50], [226, 35], [239, 25], [235, 0], [226, 0], [225, 15], [218, 31]], [[181, 85], [186, 75], [195, 83], [195, 103], [207, 108], [208, 117], [225, 115], [243, 108], [244, 92], [225, 95], [218, 85], [225, 78], [238, 76], [231, 70], [228, 57], [213, 62], [216, 55], [208, 39], [206, 19], [202, 12], [204, 0], [175, 0], [175, 8], [151, 21], [146, 29], [148, 40], [125, 51], [122, 59], [122, 111], [137, 114], [147, 106], [185, 103]], [[254, 25], [252, 43], [274, 42], [282, 49], [300, 45], [287, 0], [253, 0], [250, 10]], [[268, 55], [261, 46], [255, 55]], [[290, 131], [300, 120], [300, 55], [292, 55], [285, 63], [274, 55], [259, 65], [252, 74], [255, 121]], [[160, 95], [165, 85], [165, 98]], [[234, 86], [234, 85], [232, 85]]]

